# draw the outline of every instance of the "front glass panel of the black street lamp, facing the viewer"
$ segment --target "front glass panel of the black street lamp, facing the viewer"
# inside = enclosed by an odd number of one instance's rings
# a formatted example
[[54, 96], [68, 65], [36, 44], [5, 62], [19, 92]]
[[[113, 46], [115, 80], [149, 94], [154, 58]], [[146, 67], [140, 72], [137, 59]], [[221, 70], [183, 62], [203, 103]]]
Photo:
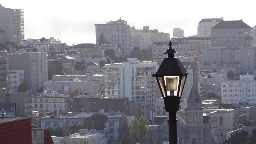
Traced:
[[180, 77], [178, 77], [178, 76], [165, 76], [164, 77], [164, 83], [166, 86], [167, 95], [170, 95], [170, 91], [174, 91], [174, 96], [177, 96], [179, 81], [180, 81]]

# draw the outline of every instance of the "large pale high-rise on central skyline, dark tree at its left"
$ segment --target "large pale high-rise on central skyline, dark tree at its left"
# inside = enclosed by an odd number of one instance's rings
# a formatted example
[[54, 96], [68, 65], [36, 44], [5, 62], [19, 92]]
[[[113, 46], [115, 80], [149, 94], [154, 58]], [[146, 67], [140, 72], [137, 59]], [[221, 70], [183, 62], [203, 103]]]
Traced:
[[99, 37], [104, 34], [106, 43], [117, 44], [122, 48], [122, 56], [128, 57], [132, 51], [132, 33], [130, 25], [121, 18], [117, 21], [109, 21], [105, 24], [95, 24], [96, 44], [100, 44]]

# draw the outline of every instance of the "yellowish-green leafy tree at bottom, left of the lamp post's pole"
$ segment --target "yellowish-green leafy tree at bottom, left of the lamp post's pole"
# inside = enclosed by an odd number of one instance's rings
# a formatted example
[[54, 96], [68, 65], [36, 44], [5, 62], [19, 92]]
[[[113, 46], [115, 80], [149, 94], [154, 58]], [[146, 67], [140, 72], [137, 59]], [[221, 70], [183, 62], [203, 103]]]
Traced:
[[149, 121], [146, 117], [133, 119], [131, 123], [130, 139], [133, 143], [141, 143], [147, 140]]

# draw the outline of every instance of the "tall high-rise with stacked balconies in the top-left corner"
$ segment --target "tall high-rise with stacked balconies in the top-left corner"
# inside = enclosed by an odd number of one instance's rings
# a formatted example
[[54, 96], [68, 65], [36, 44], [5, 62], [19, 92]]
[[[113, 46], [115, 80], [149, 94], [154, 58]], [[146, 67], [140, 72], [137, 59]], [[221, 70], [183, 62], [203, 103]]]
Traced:
[[24, 12], [5, 8], [0, 4], [0, 27], [5, 32], [5, 42], [21, 44], [24, 40]]

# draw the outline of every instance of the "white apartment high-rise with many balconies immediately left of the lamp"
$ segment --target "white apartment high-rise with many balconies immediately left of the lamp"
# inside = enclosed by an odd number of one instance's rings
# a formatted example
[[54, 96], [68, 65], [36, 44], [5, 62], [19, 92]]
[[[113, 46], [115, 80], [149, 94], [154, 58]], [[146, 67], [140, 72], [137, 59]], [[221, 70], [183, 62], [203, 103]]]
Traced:
[[152, 74], [156, 72], [157, 63], [128, 58], [127, 62], [106, 64], [105, 67], [105, 96], [129, 97], [129, 101], [142, 110], [134, 108], [134, 112], [139, 112], [137, 116], [149, 117], [149, 111], [155, 107], [156, 80]]

